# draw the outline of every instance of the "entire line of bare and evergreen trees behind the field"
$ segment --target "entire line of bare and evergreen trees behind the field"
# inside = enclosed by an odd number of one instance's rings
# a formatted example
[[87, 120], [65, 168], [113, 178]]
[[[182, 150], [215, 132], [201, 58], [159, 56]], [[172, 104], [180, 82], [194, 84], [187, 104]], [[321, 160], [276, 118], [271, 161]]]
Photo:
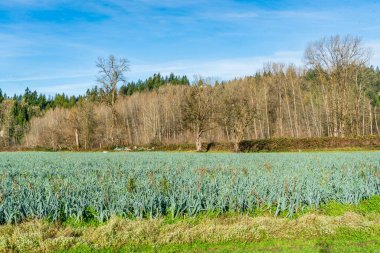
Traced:
[[379, 135], [380, 71], [353, 36], [310, 43], [305, 66], [268, 63], [225, 82], [155, 74], [125, 81], [129, 63], [98, 59], [85, 95], [0, 93], [0, 145], [53, 149]]

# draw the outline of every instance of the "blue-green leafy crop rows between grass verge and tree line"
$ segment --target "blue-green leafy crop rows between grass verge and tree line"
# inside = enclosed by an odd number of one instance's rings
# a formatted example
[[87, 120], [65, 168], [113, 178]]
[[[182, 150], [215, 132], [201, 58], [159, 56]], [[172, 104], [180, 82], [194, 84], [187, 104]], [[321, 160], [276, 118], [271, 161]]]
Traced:
[[0, 153], [0, 223], [254, 212], [380, 194], [380, 153]]

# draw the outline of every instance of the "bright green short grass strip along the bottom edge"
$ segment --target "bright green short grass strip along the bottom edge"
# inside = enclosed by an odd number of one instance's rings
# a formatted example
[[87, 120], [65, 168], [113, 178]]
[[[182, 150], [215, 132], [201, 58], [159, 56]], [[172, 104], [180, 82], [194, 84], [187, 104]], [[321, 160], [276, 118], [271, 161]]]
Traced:
[[319, 238], [314, 240], [266, 240], [261, 242], [222, 242], [191, 244], [170, 244], [163, 246], [124, 246], [120, 248], [96, 249], [90, 246], [78, 246], [69, 250], [57, 251], [57, 253], [113, 253], [113, 252], [289, 252], [289, 253], [332, 253], [332, 252], [379, 252], [380, 240], [378, 237], [366, 238], [364, 240]]

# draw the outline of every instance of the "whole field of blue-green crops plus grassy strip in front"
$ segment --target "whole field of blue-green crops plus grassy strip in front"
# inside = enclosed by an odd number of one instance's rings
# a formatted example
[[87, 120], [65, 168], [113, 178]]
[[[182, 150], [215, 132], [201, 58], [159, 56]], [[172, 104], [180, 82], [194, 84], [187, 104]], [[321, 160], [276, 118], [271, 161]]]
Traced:
[[379, 195], [379, 152], [0, 153], [0, 251], [376, 252]]

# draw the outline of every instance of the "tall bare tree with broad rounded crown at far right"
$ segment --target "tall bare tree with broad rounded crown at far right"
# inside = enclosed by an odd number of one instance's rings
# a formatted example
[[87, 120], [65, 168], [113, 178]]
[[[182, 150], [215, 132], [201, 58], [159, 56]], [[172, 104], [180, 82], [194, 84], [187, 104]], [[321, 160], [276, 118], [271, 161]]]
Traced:
[[329, 135], [345, 136], [349, 132], [348, 97], [352, 90], [356, 90], [355, 121], [359, 121], [365, 84], [358, 76], [365, 70], [370, 56], [371, 51], [362, 45], [360, 38], [350, 35], [324, 37], [306, 49], [306, 63], [317, 71], [317, 82], [322, 86]]

